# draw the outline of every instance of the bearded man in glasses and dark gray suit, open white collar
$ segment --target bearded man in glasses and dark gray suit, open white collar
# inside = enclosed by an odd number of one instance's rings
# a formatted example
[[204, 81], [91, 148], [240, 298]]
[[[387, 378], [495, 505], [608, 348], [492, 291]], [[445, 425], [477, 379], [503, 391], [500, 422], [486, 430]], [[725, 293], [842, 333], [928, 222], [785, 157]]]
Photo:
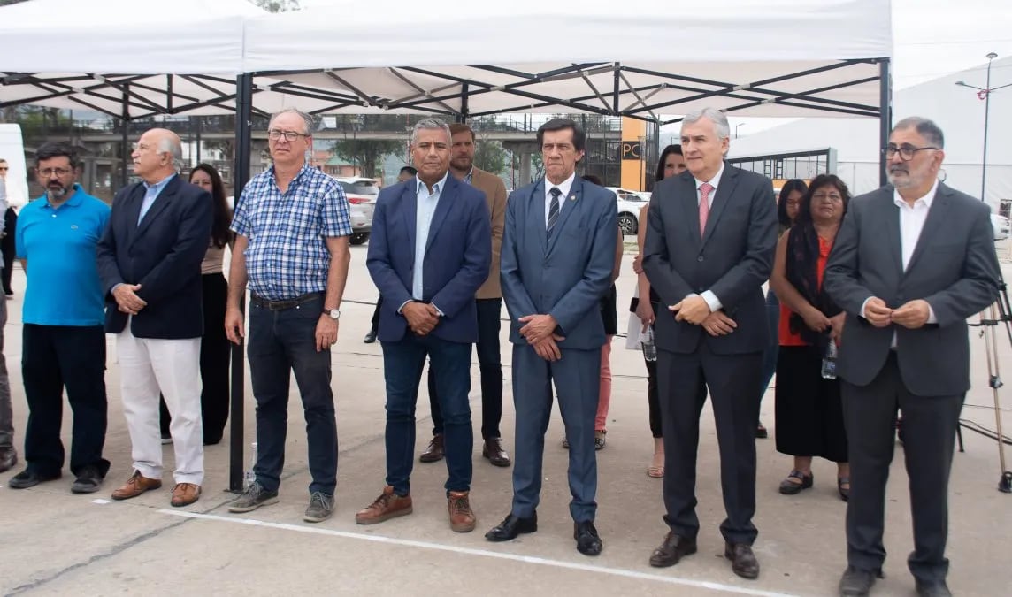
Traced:
[[837, 373], [850, 445], [847, 571], [867, 595], [886, 560], [886, 481], [903, 410], [919, 595], [948, 595], [949, 468], [969, 389], [966, 318], [998, 296], [990, 209], [938, 181], [941, 130], [900, 120], [884, 148], [890, 184], [850, 201], [824, 286], [847, 312]]

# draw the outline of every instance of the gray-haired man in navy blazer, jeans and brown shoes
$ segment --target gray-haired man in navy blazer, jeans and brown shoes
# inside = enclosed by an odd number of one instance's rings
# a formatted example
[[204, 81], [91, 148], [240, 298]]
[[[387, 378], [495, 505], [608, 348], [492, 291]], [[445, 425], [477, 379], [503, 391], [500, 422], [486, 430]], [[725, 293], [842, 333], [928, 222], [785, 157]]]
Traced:
[[[478, 341], [475, 292], [489, 275], [492, 229], [485, 194], [448, 175], [450, 132], [415, 124], [418, 175], [381, 191], [366, 264], [383, 295], [380, 342], [387, 380], [387, 487], [355, 515], [374, 524], [410, 514], [415, 404], [431, 359], [445, 439], [450, 528], [475, 528], [471, 510], [471, 345]], [[596, 396], [596, 395], [595, 395]]]

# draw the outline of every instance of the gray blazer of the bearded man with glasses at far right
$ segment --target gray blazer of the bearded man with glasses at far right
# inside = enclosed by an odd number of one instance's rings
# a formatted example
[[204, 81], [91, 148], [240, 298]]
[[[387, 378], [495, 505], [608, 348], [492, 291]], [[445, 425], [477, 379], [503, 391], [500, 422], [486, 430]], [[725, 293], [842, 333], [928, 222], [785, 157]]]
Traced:
[[[966, 318], [995, 302], [1001, 277], [990, 214], [986, 203], [939, 183], [904, 271], [894, 187], [850, 201], [823, 279], [847, 313], [837, 362], [844, 380], [870, 383], [886, 364], [895, 333], [900, 373], [912, 394], [957, 396], [969, 389]], [[938, 323], [918, 330], [875, 328], [859, 316], [870, 296], [892, 309], [923, 298]]]

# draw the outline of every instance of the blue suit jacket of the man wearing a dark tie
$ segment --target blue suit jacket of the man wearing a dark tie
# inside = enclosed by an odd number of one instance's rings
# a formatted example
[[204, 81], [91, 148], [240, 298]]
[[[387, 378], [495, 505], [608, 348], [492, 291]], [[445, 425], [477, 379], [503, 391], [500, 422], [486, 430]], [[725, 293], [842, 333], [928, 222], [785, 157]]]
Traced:
[[611, 287], [618, 238], [615, 193], [573, 181], [547, 240], [544, 179], [506, 201], [500, 278], [510, 317], [510, 342], [527, 344], [519, 318], [552, 315], [561, 348], [598, 349], [606, 340], [598, 302]]

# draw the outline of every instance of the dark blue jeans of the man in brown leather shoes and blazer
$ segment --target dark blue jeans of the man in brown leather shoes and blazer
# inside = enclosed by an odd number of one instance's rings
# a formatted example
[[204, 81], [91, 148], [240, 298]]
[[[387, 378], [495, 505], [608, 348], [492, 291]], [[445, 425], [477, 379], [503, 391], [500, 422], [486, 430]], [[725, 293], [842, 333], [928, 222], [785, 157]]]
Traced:
[[418, 336], [410, 330], [399, 342], [383, 343], [384, 377], [387, 380], [387, 485], [398, 495], [411, 492], [415, 461], [415, 405], [425, 357], [435, 370], [439, 407], [443, 414], [447, 492], [471, 491], [471, 344], [435, 336]]

